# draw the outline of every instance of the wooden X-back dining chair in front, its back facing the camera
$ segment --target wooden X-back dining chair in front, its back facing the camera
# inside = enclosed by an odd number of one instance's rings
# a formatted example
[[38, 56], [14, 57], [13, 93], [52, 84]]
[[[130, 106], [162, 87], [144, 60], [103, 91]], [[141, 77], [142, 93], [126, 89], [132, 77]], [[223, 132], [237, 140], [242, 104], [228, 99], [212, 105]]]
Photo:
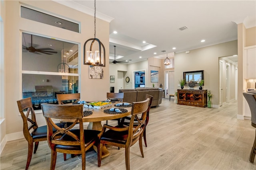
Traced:
[[[82, 170], [85, 170], [86, 150], [90, 149], [98, 141], [100, 131], [84, 129], [83, 105], [55, 105], [41, 104], [43, 115], [46, 119], [48, 136], [47, 141], [51, 149], [51, 170], [55, 169], [57, 152], [68, 154], [82, 154]], [[66, 127], [58, 127], [52, 119], [74, 119], [74, 122]], [[79, 129], [72, 129], [79, 123]], [[56, 129], [56, 132], [53, 132]], [[55, 139], [56, 135], [62, 135]], [[98, 146], [98, 145], [96, 145]], [[98, 152], [100, 148], [98, 147]]]

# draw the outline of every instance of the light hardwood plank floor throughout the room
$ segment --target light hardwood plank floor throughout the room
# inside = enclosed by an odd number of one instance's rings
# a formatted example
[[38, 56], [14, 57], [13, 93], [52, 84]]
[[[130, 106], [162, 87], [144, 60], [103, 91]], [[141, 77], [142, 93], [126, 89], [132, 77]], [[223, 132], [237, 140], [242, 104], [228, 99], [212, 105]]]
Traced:
[[[256, 163], [249, 161], [255, 128], [250, 120], [238, 120], [236, 116], [236, 102], [216, 109], [182, 106], [163, 99], [160, 106], [150, 109], [144, 158], [138, 143], [130, 148], [131, 170], [255, 170]], [[110, 156], [102, 159], [100, 168], [96, 152], [86, 152], [87, 170], [125, 169], [124, 149], [107, 148]], [[81, 156], [67, 158], [64, 161], [58, 154], [56, 170], [81, 169]], [[24, 169], [26, 159], [26, 140], [9, 141], [1, 154], [0, 169]], [[40, 142], [29, 170], [48, 169], [50, 149], [47, 142]]]

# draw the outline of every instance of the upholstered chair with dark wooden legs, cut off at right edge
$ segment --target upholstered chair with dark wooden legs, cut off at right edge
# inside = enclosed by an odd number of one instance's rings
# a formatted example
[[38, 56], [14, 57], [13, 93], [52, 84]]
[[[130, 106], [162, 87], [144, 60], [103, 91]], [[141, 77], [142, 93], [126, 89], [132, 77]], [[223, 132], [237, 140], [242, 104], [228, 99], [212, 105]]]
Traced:
[[[243, 92], [243, 95], [250, 107], [252, 126], [256, 128], [256, 94]], [[250, 162], [254, 162], [255, 154], [256, 154], [256, 132], [255, 132], [254, 144], [252, 146], [252, 150], [250, 154]]]

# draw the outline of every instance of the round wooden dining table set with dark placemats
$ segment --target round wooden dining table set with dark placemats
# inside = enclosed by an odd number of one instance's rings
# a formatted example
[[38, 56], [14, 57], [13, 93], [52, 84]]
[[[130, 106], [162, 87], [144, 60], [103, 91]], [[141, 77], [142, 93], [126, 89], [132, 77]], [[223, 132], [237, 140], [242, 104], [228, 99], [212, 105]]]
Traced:
[[[83, 119], [82, 119], [83, 122], [89, 122], [89, 124], [87, 126], [87, 129], [93, 129], [93, 130], [101, 131], [102, 128], [103, 128], [102, 121], [118, 119], [118, 118], [122, 118], [122, 117], [130, 115], [131, 111], [132, 111], [132, 104], [129, 104], [128, 106], [125, 106], [125, 107], [124, 107], [124, 105], [122, 107], [121, 106], [115, 106], [116, 104], [119, 104], [119, 103], [128, 104], [126, 102], [114, 101], [112, 103], [112, 106], [104, 107], [102, 109], [84, 107], [84, 111], [87, 111], [87, 112], [91, 111], [92, 112], [91, 115], [84, 116]], [[126, 109], [127, 112], [124, 112], [124, 113], [118, 113], [118, 112], [113, 113], [113, 111], [112, 111], [112, 113], [105, 113], [104, 112], [104, 110], [111, 109], [111, 108]], [[75, 119], [68, 119], [68, 122], [74, 122], [74, 120]], [[58, 119], [58, 121], [62, 121], [62, 120]], [[65, 119], [63, 121], [67, 121], [67, 119]], [[96, 152], [97, 152], [96, 146], [93, 146], [93, 147], [94, 147], [94, 150], [96, 150]], [[109, 155], [110, 155], [110, 153], [108, 152], [108, 149], [106, 148], [105, 145], [103, 145], [103, 147], [102, 147], [102, 158], [105, 158], [106, 156], [109, 156]]]

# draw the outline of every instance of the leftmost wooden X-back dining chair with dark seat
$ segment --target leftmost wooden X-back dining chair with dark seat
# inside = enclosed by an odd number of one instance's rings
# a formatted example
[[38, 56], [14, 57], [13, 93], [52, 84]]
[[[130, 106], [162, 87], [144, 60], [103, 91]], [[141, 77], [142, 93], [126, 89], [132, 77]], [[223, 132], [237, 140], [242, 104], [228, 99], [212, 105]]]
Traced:
[[[33, 144], [35, 143], [34, 154], [38, 149], [38, 144], [40, 141], [47, 140], [47, 126], [39, 126], [36, 123], [36, 114], [32, 107], [31, 98], [25, 98], [22, 100], [17, 101], [18, 109], [20, 115], [23, 120], [23, 135], [25, 139], [28, 141], [28, 158], [26, 163], [26, 170], [29, 167], [31, 162], [32, 153], [33, 153]], [[25, 112], [25, 113], [24, 113]], [[64, 127], [64, 123], [57, 123], [59, 127]], [[54, 131], [56, 131], [54, 129]], [[61, 135], [57, 135], [56, 138], [60, 137]]]

